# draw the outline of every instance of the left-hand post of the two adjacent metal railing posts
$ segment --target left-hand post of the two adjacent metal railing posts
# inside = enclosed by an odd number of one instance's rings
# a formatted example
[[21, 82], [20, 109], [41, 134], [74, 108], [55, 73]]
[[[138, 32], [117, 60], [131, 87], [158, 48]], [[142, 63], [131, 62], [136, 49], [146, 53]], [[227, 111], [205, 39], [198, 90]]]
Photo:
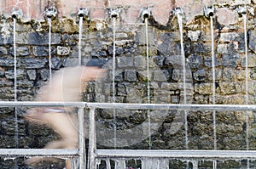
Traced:
[[84, 108], [79, 108], [79, 168], [83, 169], [86, 164], [85, 138], [84, 138]]

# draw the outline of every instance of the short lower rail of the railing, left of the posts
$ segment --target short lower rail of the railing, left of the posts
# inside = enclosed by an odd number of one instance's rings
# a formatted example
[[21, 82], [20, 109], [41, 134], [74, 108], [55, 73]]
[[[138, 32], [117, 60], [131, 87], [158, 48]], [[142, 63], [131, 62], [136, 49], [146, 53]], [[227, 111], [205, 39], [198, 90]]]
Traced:
[[73, 155], [79, 155], [79, 150], [78, 149], [0, 149], [0, 155], [73, 156]]

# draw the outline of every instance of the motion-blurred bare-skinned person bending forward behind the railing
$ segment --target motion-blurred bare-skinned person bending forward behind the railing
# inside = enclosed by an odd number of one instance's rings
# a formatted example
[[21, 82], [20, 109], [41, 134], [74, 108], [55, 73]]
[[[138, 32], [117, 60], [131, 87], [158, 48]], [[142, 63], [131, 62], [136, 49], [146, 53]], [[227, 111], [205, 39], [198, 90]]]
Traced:
[[[105, 71], [96, 66], [63, 68], [40, 88], [35, 101], [63, 102], [63, 107], [32, 108], [25, 115], [26, 121], [46, 124], [60, 136], [59, 140], [46, 144], [44, 149], [78, 149], [78, 117], [74, 109], [65, 107], [65, 102], [81, 101], [87, 83], [101, 78]], [[26, 164], [34, 166], [38, 161], [42, 161], [42, 158], [32, 157]], [[70, 161], [66, 168], [71, 168]]]

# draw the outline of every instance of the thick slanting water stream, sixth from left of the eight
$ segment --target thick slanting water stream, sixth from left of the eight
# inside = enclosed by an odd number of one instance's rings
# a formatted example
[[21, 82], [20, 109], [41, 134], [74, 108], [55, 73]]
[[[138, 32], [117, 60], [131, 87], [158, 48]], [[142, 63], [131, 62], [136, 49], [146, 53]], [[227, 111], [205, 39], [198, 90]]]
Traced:
[[[184, 54], [184, 47], [183, 47], [183, 18], [182, 14], [177, 14], [177, 22], [179, 26], [179, 33], [180, 33], [180, 46], [181, 46], [181, 55], [182, 55], [182, 63], [183, 63], [183, 94], [184, 94], [184, 102], [183, 104], [187, 104], [187, 91], [186, 91], [186, 59]], [[188, 111], [184, 110], [185, 114], [185, 148], [189, 149], [189, 138], [188, 138]]]

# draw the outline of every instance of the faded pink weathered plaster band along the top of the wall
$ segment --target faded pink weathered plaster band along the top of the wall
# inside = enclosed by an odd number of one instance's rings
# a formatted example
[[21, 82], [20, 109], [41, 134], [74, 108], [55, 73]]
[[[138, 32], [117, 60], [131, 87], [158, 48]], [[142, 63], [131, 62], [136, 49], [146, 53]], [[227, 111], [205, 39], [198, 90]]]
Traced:
[[[88, 8], [90, 10], [90, 18], [92, 20], [105, 20], [108, 15], [108, 8], [123, 8], [121, 14], [122, 19], [125, 23], [136, 23], [139, 11], [141, 8], [151, 7], [154, 19], [160, 24], [166, 24], [169, 15], [173, 8], [181, 7], [184, 10], [187, 21], [193, 20], [195, 15], [203, 14], [202, 8], [205, 6], [217, 5], [220, 8], [217, 10], [218, 21], [221, 23], [232, 23], [236, 14], [232, 8], [236, 8], [238, 5], [252, 6], [255, 3], [253, 0], [242, 1], [242, 0], [200, 0], [200, 1], [189, 1], [189, 0], [3, 0], [0, 2], [0, 11], [2, 14], [10, 15], [13, 10], [21, 9], [24, 20], [44, 20], [45, 8], [55, 7], [58, 9], [58, 17], [74, 17], [78, 14], [79, 8]], [[251, 8], [253, 13], [253, 8]]]

